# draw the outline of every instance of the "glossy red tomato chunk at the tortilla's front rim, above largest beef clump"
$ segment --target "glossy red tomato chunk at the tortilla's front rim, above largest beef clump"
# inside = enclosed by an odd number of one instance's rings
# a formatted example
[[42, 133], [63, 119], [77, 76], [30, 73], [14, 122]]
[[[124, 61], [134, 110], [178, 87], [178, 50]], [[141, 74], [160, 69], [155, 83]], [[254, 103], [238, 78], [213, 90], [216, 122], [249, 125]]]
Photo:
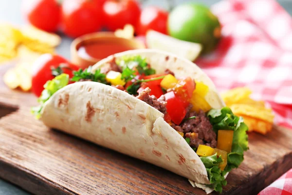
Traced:
[[186, 114], [182, 100], [173, 91], [164, 94], [164, 96], [167, 101], [167, 112], [169, 113], [171, 120], [179, 125]]

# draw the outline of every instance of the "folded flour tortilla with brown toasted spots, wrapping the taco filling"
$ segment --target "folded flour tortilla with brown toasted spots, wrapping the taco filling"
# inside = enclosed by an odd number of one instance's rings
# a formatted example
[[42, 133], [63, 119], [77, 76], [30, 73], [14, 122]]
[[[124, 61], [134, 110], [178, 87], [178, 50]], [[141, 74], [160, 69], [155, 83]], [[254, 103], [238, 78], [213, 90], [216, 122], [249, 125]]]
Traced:
[[[145, 57], [157, 74], [165, 69], [176, 77], [191, 77], [209, 86], [206, 100], [222, 108], [214, 84], [194, 63], [157, 50], [132, 50], [115, 54]], [[105, 66], [113, 56], [99, 61], [92, 71]], [[144, 101], [109, 85], [76, 82], [58, 90], [45, 104], [41, 119], [45, 125], [81, 137], [98, 145], [133, 156], [194, 181], [207, 193], [213, 189], [200, 157], [184, 138], [169, 126], [164, 115]], [[197, 186], [196, 185], [196, 186]]]

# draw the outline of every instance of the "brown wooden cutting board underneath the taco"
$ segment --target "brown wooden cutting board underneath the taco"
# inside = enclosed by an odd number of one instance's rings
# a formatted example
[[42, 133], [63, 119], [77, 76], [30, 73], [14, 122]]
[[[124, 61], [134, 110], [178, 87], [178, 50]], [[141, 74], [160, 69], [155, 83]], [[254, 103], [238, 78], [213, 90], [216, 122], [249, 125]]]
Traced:
[[[30, 114], [30, 93], [8, 89], [0, 67], [0, 177], [36, 195], [204, 195], [186, 178], [51, 130]], [[254, 195], [292, 168], [292, 131], [249, 134], [250, 150], [223, 195]], [[217, 194], [217, 193], [214, 193]]]

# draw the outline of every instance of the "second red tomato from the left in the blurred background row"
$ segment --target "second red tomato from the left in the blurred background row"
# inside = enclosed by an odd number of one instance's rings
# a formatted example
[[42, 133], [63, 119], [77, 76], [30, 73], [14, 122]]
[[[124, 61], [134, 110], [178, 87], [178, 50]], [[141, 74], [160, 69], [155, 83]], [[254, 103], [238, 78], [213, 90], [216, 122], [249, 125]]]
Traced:
[[64, 0], [62, 3], [61, 28], [69, 37], [93, 33], [103, 23], [100, 0]]

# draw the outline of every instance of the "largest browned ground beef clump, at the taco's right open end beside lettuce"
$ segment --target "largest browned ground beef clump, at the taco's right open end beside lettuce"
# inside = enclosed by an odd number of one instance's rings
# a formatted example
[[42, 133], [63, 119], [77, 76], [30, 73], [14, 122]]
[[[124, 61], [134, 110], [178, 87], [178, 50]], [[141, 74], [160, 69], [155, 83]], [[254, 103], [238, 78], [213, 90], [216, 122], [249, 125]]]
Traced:
[[[192, 105], [188, 107], [190, 110]], [[172, 124], [171, 126], [179, 132], [183, 132], [185, 137], [190, 138], [190, 146], [198, 148], [199, 144], [207, 145], [212, 148], [216, 148], [216, 133], [213, 131], [213, 127], [206, 117], [206, 114], [201, 110], [199, 113], [187, 112], [185, 118], [194, 117], [194, 119], [189, 119], [180, 125]], [[197, 133], [198, 137], [191, 137], [191, 133]]]

